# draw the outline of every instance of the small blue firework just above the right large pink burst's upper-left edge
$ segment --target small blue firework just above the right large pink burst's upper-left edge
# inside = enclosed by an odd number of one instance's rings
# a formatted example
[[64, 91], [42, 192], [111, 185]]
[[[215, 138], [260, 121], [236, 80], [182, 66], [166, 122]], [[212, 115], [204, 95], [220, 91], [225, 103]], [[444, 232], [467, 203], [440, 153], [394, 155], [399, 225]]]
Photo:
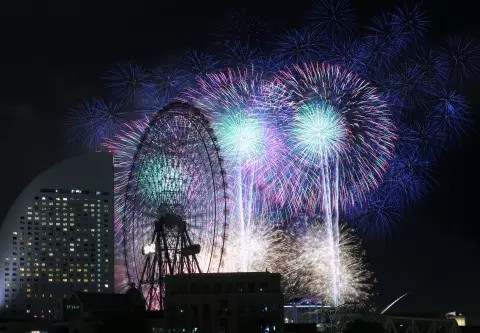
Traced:
[[299, 64], [322, 59], [325, 46], [317, 30], [311, 28], [290, 29], [276, 43], [275, 53], [286, 62]]

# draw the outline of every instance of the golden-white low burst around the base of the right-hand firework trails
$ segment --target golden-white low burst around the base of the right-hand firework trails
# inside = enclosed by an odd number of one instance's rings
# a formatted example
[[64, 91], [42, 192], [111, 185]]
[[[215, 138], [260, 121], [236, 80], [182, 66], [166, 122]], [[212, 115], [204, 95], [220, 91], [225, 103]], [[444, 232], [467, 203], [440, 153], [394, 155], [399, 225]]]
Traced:
[[[368, 300], [373, 275], [365, 264], [365, 253], [360, 241], [345, 228], [340, 229], [340, 256], [338, 267], [332, 265], [329, 231], [323, 222], [310, 222], [308, 226], [287, 237], [289, 253], [284, 254], [280, 268], [285, 278], [287, 295], [318, 297], [326, 304], [362, 304]], [[332, 270], [338, 269], [334, 273]], [[338, 274], [340, 299], [331, 289], [332, 276]]]

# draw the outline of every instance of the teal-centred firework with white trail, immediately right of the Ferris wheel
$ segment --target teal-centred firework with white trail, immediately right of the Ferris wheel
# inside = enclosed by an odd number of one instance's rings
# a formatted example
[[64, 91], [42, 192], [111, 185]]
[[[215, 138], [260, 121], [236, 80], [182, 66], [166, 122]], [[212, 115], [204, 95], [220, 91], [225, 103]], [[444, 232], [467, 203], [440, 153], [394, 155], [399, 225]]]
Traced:
[[[286, 156], [286, 147], [261, 98], [264, 79], [252, 69], [226, 70], [200, 78], [184, 100], [206, 110], [218, 137], [229, 175], [235, 237], [240, 239], [241, 271], [248, 270], [248, 237], [268, 210], [269, 191], [277, 178], [276, 167]], [[281, 198], [277, 196], [277, 198]], [[280, 199], [279, 199], [280, 200]]]

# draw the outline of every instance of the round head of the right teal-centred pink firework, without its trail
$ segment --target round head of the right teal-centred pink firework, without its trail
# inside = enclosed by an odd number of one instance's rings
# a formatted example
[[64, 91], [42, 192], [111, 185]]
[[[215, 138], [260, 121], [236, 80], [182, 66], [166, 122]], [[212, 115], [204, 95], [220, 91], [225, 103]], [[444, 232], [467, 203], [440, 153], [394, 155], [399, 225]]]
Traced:
[[[318, 171], [322, 161], [329, 167], [338, 162], [344, 204], [378, 186], [396, 134], [386, 102], [374, 87], [340, 66], [310, 63], [281, 72], [271, 90], [272, 98], [282, 100], [280, 117], [292, 134], [289, 146], [306, 175], [311, 168]], [[308, 176], [304, 180], [301, 188], [308, 196], [310, 185], [322, 188]]]

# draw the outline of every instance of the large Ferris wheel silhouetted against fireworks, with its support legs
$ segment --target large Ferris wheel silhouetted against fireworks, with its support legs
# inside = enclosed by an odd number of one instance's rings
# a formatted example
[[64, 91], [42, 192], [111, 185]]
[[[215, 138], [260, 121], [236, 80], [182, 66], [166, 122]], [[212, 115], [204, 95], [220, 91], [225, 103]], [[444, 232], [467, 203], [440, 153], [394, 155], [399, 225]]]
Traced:
[[225, 173], [201, 111], [173, 103], [153, 116], [128, 175], [124, 256], [148, 309], [164, 304], [165, 276], [217, 272], [227, 226]]

